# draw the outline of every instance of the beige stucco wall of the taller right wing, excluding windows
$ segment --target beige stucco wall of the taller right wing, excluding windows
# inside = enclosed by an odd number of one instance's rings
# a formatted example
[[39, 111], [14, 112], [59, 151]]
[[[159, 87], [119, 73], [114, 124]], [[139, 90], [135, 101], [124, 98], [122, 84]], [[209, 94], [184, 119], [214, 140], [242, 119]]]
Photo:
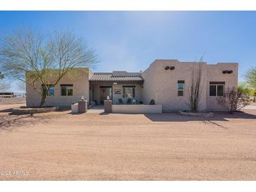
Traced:
[[[189, 109], [189, 88], [191, 85], [191, 71], [198, 66], [195, 62], [179, 62], [178, 60], [155, 60], [148, 69], [142, 72], [144, 88], [142, 100], [149, 104], [155, 100], [162, 104], [163, 111], [177, 111]], [[174, 70], [164, 69], [174, 66]], [[202, 64], [201, 102], [199, 109], [212, 109], [214, 99], [209, 99], [209, 81], [227, 81], [228, 86], [237, 86], [237, 64]], [[223, 76], [222, 69], [233, 69], [233, 74]], [[177, 96], [177, 81], [184, 80], [184, 96]], [[216, 107], [215, 109], [221, 109]]]

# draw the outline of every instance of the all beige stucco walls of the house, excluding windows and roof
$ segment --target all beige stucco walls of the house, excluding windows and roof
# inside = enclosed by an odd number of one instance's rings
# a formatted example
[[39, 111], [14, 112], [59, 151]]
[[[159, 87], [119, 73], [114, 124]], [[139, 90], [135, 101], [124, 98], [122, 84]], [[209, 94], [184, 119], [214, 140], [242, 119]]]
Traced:
[[[197, 66], [195, 62], [179, 62], [178, 60], [155, 60], [149, 68], [142, 72], [144, 78], [143, 88], [135, 85], [135, 99], [137, 102], [142, 101], [149, 104], [150, 100], [155, 100], [156, 104], [161, 104], [163, 111], [177, 111], [189, 109], [189, 88], [191, 85], [191, 71]], [[164, 69], [166, 66], [174, 66], [174, 70]], [[77, 102], [81, 96], [89, 100], [89, 76], [90, 71], [80, 69], [77, 75], [72, 78], [62, 78], [60, 83], [55, 86], [55, 95], [47, 97], [45, 105], [53, 106], [70, 106], [71, 102]], [[222, 109], [215, 102], [216, 97], [209, 96], [210, 81], [225, 81], [225, 89], [235, 87], [238, 82], [238, 64], [237, 63], [203, 63], [203, 80], [201, 84], [201, 110], [220, 110]], [[233, 70], [232, 74], [223, 74], [223, 70]], [[177, 81], [183, 80], [184, 96], [177, 96]], [[60, 84], [73, 84], [73, 96], [61, 96]], [[100, 86], [112, 85], [109, 83], [91, 84], [90, 97], [100, 104]], [[41, 84], [39, 83], [40, 87]], [[121, 89], [121, 94], [114, 94], [114, 89]], [[27, 84], [27, 106], [38, 106], [41, 96]], [[123, 99], [123, 84], [112, 85], [113, 104], [119, 104], [119, 98]]]

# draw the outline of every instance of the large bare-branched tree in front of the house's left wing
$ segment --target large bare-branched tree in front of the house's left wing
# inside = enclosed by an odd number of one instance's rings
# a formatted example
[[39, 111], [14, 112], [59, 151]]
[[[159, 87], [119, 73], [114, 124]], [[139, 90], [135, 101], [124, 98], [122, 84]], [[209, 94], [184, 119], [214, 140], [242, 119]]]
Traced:
[[[32, 85], [46, 102], [50, 85], [56, 85], [76, 67], [97, 63], [95, 50], [71, 31], [53, 32], [49, 37], [20, 29], [6, 36], [0, 48], [0, 59], [8, 76]], [[46, 91], [38, 85], [42, 85]]]

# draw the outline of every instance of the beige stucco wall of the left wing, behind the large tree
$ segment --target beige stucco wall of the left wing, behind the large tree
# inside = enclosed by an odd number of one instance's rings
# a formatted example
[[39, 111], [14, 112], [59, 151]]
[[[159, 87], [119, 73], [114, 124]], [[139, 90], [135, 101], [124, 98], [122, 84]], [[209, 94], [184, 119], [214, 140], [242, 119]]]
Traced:
[[[88, 81], [88, 69], [78, 68], [75, 75], [72, 77], [65, 77], [55, 85], [54, 95], [46, 98], [44, 106], [71, 106], [72, 102], [78, 102], [81, 100], [81, 96], [85, 97], [85, 100], [89, 100], [89, 81]], [[72, 96], [61, 96], [60, 84], [73, 84]], [[41, 83], [36, 83], [38, 88], [41, 88]], [[34, 88], [27, 84], [27, 107], [39, 106], [41, 101], [41, 95], [34, 90]]]

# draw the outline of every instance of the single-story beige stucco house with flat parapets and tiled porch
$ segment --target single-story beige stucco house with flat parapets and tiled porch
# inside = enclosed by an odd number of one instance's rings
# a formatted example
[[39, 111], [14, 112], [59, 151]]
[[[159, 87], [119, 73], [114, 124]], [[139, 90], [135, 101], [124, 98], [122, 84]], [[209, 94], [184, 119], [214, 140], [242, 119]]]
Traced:
[[[58, 85], [50, 88], [46, 104], [48, 106], [70, 106], [72, 102], [88, 100], [88, 104], [103, 104], [112, 100], [113, 104], [149, 104], [154, 100], [161, 104], [163, 111], [189, 109], [188, 95], [191, 72], [201, 64], [201, 104], [202, 110], [219, 110], [215, 98], [224, 95], [227, 88], [237, 88], [238, 63], [207, 64], [206, 62], [180, 62], [179, 60], [155, 60], [139, 73], [112, 71], [95, 73], [88, 68], [77, 68], [72, 78], [62, 78]], [[40, 86], [40, 84], [39, 84]], [[27, 84], [27, 107], [38, 106], [40, 95]]]

